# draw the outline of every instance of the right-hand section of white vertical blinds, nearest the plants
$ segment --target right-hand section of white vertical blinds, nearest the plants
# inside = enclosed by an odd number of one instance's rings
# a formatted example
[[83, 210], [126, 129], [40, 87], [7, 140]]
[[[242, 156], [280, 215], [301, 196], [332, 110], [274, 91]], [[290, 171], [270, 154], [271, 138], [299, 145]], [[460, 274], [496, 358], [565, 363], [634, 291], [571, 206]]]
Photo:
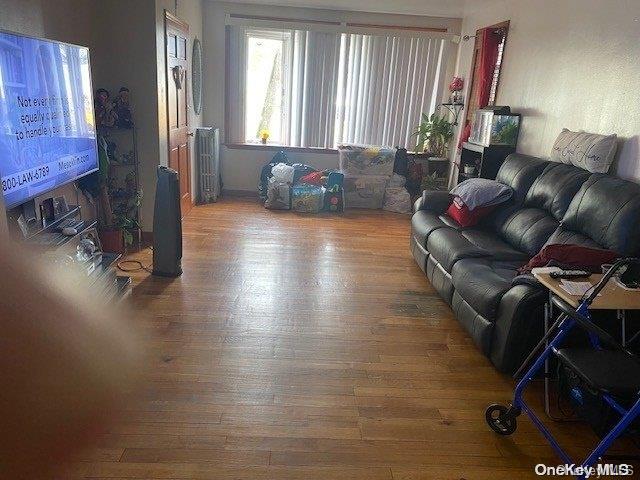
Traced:
[[442, 96], [446, 42], [344, 34], [335, 142], [413, 147], [422, 112]]

